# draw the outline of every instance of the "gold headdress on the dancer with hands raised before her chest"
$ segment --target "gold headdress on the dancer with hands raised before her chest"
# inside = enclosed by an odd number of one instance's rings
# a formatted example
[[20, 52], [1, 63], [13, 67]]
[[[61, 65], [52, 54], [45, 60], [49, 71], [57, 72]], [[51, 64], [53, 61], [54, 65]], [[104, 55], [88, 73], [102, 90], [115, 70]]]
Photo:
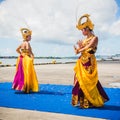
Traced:
[[[85, 14], [85, 15], [83, 15], [83, 16], [80, 17], [80, 19], [79, 19], [79, 21], [78, 21], [78, 25], [76, 25], [76, 27], [77, 27], [79, 30], [82, 30], [82, 29], [84, 29], [84, 28], [86, 28], [86, 27], [89, 27], [91, 30], [93, 30], [94, 24], [93, 24], [92, 21], [89, 19], [89, 16], [90, 16], [90, 15]], [[86, 22], [81, 23], [81, 20], [82, 20], [83, 18], [85, 18], [85, 17], [87, 18]]]

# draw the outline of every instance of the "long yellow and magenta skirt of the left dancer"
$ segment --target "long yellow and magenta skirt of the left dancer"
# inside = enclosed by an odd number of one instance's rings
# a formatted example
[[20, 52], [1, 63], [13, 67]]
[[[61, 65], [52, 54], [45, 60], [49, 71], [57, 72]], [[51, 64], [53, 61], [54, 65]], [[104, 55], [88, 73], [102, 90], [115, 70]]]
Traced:
[[30, 91], [38, 92], [38, 80], [33, 65], [33, 59], [27, 54], [18, 57], [12, 88], [26, 93]]

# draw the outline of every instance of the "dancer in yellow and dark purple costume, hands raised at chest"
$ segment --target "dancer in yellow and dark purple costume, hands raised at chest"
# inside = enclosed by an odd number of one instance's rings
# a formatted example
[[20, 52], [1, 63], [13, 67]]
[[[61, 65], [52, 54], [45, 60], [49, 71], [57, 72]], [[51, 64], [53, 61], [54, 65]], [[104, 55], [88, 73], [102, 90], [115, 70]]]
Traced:
[[[82, 20], [86, 19], [84, 23]], [[98, 37], [94, 35], [94, 25], [88, 14], [80, 17], [78, 30], [86, 36], [74, 46], [76, 54], [81, 53], [74, 71], [74, 87], [72, 89], [72, 105], [81, 108], [102, 107], [109, 98], [98, 80], [97, 62], [95, 52], [98, 45]]]

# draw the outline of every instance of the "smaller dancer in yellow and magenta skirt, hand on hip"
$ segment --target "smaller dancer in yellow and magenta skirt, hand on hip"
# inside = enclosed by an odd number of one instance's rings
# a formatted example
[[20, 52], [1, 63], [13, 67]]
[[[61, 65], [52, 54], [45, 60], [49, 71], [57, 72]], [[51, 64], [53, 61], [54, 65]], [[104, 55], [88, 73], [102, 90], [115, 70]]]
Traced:
[[23, 36], [22, 44], [16, 49], [20, 54], [16, 64], [16, 74], [14, 77], [12, 88], [24, 91], [25, 93], [38, 92], [38, 80], [33, 65], [34, 54], [30, 46], [32, 31], [22, 28]]

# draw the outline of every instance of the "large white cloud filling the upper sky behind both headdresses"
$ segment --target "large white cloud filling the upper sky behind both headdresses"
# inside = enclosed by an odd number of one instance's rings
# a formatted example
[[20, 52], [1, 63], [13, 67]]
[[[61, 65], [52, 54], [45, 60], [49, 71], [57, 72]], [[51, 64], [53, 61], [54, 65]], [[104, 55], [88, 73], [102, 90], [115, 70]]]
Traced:
[[21, 39], [19, 29], [29, 26], [33, 41], [74, 44], [81, 36], [76, 17], [88, 13], [96, 33], [109, 39], [108, 34], [120, 36], [117, 10], [115, 0], [5, 0], [0, 5], [0, 36]]

